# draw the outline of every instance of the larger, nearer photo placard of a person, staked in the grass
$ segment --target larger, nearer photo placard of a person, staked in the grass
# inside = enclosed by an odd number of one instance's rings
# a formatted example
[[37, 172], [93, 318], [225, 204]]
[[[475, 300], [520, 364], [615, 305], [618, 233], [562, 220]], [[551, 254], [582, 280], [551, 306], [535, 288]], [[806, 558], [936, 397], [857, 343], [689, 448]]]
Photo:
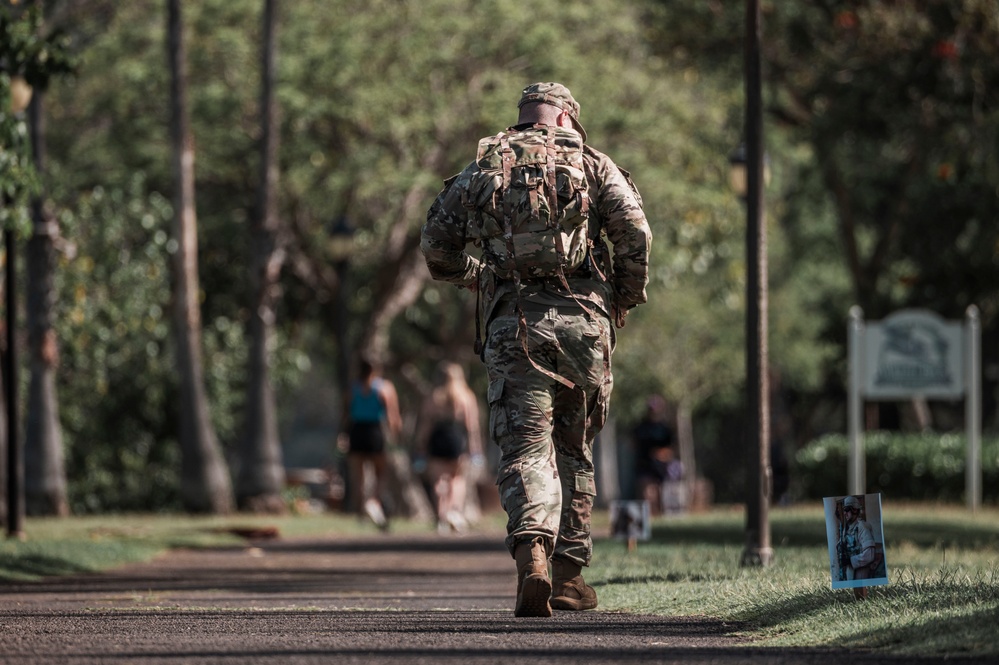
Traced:
[[834, 589], [888, 584], [881, 495], [826, 497], [826, 540]]

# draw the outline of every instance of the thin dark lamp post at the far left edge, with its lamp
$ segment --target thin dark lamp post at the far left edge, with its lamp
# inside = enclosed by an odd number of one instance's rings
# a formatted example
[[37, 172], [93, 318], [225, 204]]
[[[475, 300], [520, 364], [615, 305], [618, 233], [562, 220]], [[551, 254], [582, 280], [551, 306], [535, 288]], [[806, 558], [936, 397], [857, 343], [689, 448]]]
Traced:
[[[20, 76], [10, 79], [10, 111], [20, 116], [31, 102], [31, 86]], [[0, 194], [0, 205], [6, 202]], [[7, 537], [24, 538], [24, 455], [18, 432], [18, 357], [17, 357], [17, 238], [14, 229], [3, 231], [4, 249], [7, 253], [4, 266], [6, 280], [5, 306], [7, 309], [7, 353], [3, 368], [7, 406]]]

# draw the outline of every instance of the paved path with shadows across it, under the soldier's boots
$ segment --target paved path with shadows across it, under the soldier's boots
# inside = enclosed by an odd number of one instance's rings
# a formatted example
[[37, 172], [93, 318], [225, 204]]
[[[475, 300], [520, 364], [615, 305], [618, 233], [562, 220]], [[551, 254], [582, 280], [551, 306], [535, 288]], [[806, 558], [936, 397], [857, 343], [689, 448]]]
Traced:
[[[513, 616], [498, 534], [274, 540], [0, 584], [0, 663], [886, 662], [753, 648], [706, 618]], [[910, 660], [897, 662], [911, 662]]]

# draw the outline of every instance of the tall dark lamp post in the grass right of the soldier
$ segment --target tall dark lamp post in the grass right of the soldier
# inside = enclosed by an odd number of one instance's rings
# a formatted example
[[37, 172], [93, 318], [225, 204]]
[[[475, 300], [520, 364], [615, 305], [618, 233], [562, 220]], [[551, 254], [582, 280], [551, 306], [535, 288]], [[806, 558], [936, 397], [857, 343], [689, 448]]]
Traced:
[[[746, 402], [752, 425], [746, 448], [746, 542], [741, 566], [768, 566], [770, 547], [770, 381], [767, 237], [763, 224], [763, 104], [759, 0], [746, 0], [746, 143], [730, 158], [733, 184], [745, 184], [746, 204]], [[739, 170], [742, 170], [742, 174]]]

